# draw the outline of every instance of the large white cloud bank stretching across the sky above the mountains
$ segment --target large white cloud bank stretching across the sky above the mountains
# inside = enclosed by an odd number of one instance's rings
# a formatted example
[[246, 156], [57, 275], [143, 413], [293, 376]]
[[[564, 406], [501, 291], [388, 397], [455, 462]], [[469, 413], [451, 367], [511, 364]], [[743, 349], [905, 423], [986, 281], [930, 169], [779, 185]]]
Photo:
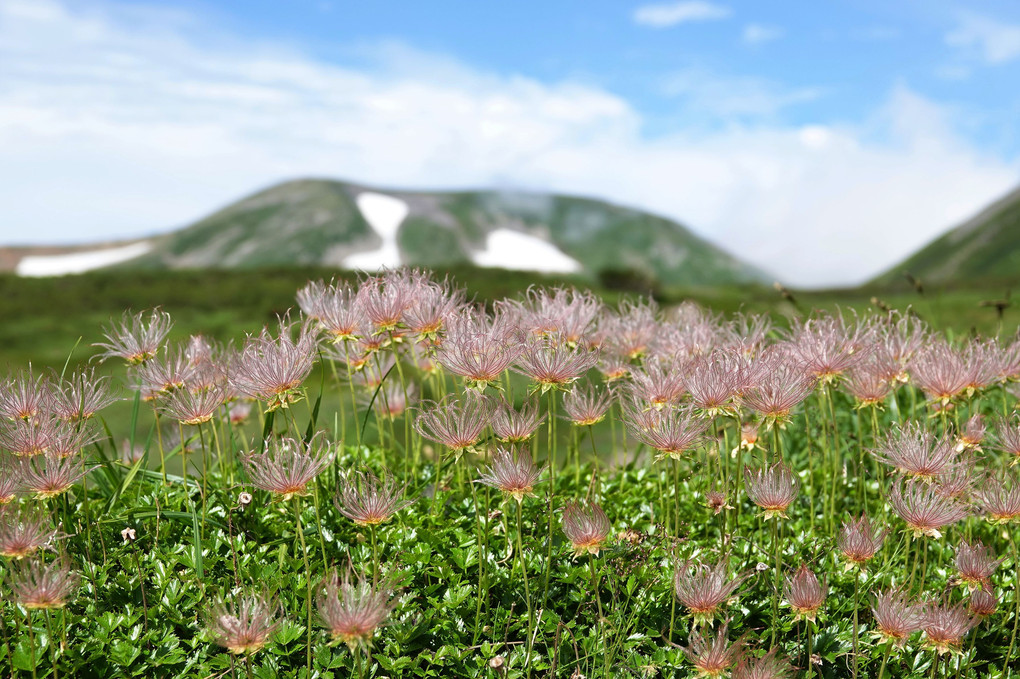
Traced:
[[[0, 0], [0, 242], [138, 236], [319, 175], [600, 196], [684, 221], [787, 282], [844, 283], [1020, 177], [906, 88], [853, 124], [733, 122], [649, 139], [632, 105], [592, 86], [396, 45], [371, 68], [343, 68], [103, 6]], [[708, 97], [700, 76], [678, 93], [684, 103]], [[754, 99], [723, 104], [774, 108]]]

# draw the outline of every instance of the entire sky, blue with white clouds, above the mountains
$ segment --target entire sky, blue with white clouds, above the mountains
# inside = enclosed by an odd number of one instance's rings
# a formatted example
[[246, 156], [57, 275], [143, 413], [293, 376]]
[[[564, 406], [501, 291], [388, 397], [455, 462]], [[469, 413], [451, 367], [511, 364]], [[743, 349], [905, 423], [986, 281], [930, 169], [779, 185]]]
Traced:
[[0, 242], [273, 181], [598, 196], [799, 284], [1020, 182], [1016, 2], [0, 0]]

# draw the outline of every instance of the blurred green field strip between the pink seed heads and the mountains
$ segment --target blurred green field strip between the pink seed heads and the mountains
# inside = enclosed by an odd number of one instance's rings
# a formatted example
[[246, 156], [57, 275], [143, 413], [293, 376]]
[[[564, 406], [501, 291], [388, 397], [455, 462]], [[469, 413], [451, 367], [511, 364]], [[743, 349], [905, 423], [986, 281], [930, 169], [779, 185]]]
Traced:
[[[592, 290], [609, 303], [632, 292], [608, 290], [579, 277], [545, 276], [473, 267], [439, 269], [449, 274], [479, 302], [516, 295], [529, 285], [576, 285]], [[102, 327], [124, 310], [155, 306], [167, 310], [175, 325], [171, 338], [202, 333], [219, 340], [243, 340], [278, 314], [296, 308], [295, 293], [308, 280], [353, 277], [335, 269], [287, 268], [209, 271], [107, 271], [57, 278], [20, 278], [0, 275], [0, 370], [32, 363], [59, 368], [88, 360], [91, 345], [102, 340]], [[762, 285], [668, 289], [657, 292], [663, 305], [693, 300], [714, 311], [770, 313], [778, 319], [814, 309], [875, 308], [872, 300], [891, 308], [908, 307], [932, 325], [953, 332], [994, 334], [1000, 331], [993, 307], [981, 306], [1002, 298], [1007, 284], [971, 283], [925, 291], [850, 289], [793, 291], [793, 301]], [[1005, 309], [1001, 331], [1012, 333], [1020, 311]], [[72, 351], [73, 350], [73, 351]]]

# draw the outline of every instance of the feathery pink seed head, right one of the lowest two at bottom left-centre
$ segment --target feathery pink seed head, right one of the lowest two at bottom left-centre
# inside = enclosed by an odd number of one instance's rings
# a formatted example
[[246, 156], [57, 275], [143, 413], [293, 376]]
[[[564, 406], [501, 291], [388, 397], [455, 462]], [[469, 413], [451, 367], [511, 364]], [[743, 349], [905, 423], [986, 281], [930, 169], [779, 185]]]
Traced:
[[330, 572], [319, 585], [316, 609], [319, 621], [335, 641], [343, 641], [352, 652], [371, 645], [375, 630], [396, 606], [386, 584], [372, 585], [345, 572], [343, 578]]

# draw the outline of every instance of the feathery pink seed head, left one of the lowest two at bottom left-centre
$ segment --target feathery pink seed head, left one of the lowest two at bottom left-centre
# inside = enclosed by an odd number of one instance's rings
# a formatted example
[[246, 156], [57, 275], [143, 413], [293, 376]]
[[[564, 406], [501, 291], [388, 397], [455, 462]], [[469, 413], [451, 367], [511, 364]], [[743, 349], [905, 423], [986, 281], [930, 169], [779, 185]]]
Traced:
[[240, 594], [206, 611], [205, 626], [218, 645], [236, 656], [261, 650], [282, 623], [279, 605], [258, 593]]

